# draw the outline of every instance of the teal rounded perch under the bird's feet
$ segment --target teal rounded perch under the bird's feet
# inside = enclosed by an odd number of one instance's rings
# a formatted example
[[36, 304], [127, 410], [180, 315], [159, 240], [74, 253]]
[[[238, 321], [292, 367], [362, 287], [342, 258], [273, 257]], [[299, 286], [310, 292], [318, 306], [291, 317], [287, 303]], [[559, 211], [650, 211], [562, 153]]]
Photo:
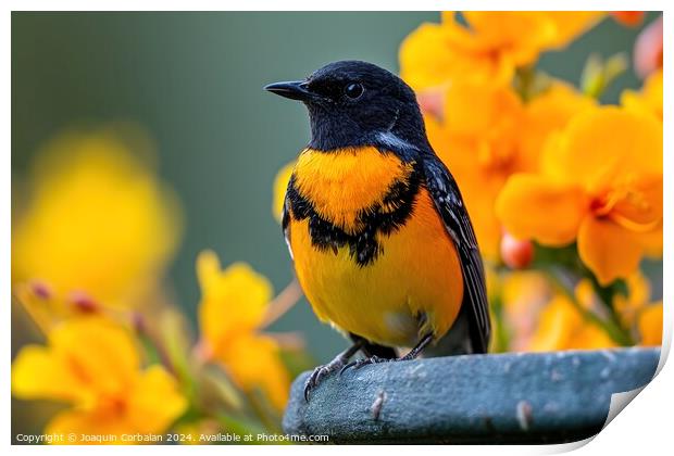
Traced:
[[611, 395], [647, 384], [659, 349], [472, 355], [385, 363], [333, 376], [303, 397], [290, 434], [330, 443], [563, 443], [603, 427]]

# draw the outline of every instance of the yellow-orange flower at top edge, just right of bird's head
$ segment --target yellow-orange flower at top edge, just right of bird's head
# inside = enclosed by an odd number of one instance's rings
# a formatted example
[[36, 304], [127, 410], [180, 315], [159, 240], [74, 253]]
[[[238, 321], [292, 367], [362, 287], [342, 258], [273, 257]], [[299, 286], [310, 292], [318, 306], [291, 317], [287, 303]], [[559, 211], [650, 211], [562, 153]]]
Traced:
[[455, 81], [507, 85], [519, 66], [545, 50], [566, 46], [595, 25], [600, 12], [470, 11], [423, 24], [400, 47], [401, 77], [414, 89]]

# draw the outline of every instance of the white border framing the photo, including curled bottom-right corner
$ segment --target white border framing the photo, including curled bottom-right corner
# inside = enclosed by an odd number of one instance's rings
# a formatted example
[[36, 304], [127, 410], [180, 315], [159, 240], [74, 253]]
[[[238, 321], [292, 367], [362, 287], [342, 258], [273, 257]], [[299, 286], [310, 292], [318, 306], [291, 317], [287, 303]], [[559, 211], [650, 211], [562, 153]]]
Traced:
[[[11, 10], [17, 11], [40, 11], [40, 10], [54, 10], [57, 5], [53, 1], [8, 1], [3, 4], [9, 7], [5, 10], [5, 14], [2, 16], [2, 86], [3, 90], [3, 106], [2, 110], [2, 138], [7, 144], [3, 152], [3, 159], [5, 164], [11, 161]], [[665, 11], [664, 14], [664, 41], [667, 43], [674, 42], [674, 34], [672, 33], [671, 21], [669, 20], [670, 4], [674, 4], [669, 1], [654, 1], [654, 0], [641, 0], [641, 1], [625, 1], [625, 0], [565, 0], [565, 1], [547, 1], [545, 2], [546, 9], [550, 10], [659, 10]], [[161, 8], [163, 10], [173, 11], [216, 11], [222, 8], [227, 8], [232, 11], [279, 11], [286, 9], [290, 11], [377, 11], [377, 10], [391, 10], [391, 11], [438, 11], [442, 9], [455, 9], [455, 10], [538, 10], [544, 4], [534, 1], [498, 1], [498, 0], [483, 0], [483, 1], [452, 1], [452, 2], [439, 2], [416, 0], [414, 2], [401, 1], [401, 0], [386, 0], [386, 1], [367, 1], [362, 0], [340, 0], [338, 2], [322, 2], [315, 1], [253, 1], [239, 2], [238, 4], [223, 3], [217, 1], [205, 0], [191, 0], [186, 1], [130, 1], [130, 0], [117, 0], [117, 1], [98, 1], [87, 2], [83, 0], [61, 1], [58, 4], [59, 10], [90, 10], [90, 11], [112, 11], [112, 10], [125, 10], [125, 11], [146, 11]], [[669, 75], [670, 64], [672, 62], [672, 48], [666, 46], [665, 50], [665, 74]], [[664, 91], [664, 117], [672, 119], [673, 117], [673, 103], [672, 92], [669, 89]], [[664, 130], [664, 168], [667, 170], [674, 169], [674, 148], [672, 147], [672, 129], [665, 128]], [[11, 219], [11, 205], [10, 205], [10, 192], [11, 192], [11, 167], [4, 166], [1, 170], [3, 177], [3, 188], [7, 191], [7, 195], [2, 199], [2, 212], [5, 216], [5, 221], [1, 226], [3, 238], [5, 243], [2, 245], [2, 287], [5, 290], [5, 303], [1, 306], [2, 320], [5, 325], [4, 338], [2, 344], [4, 345], [4, 353], [10, 352], [10, 334], [11, 334], [11, 318], [10, 318], [10, 270], [11, 270], [11, 237], [10, 237], [10, 219]], [[672, 258], [672, 208], [674, 207], [674, 201], [672, 198], [673, 185], [667, 178], [664, 180], [664, 206], [666, 207], [664, 215], [664, 256]], [[672, 342], [672, 321], [674, 321], [674, 314], [672, 312], [672, 287], [673, 282], [672, 268], [669, 262], [664, 264], [664, 290], [663, 301], [664, 306], [664, 346], [663, 352], [669, 354]], [[665, 355], [666, 356], [666, 355]], [[674, 368], [671, 364], [662, 366], [665, 360], [665, 356], [661, 359], [662, 369], [658, 377], [649, 384], [641, 394], [639, 394], [627, 407], [627, 411], [620, 414], [599, 435], [592, 440], [591, 444], [584, 445], [586, 442], [569, 444], [569, 445], [552, 445], [552, 446], [461, 446], [461, 447], [447, 447], [447, 446], [423, 446], [416, 451], [423, 451], [424, 453], [434, 453], [447, 455], [448, 452], [454, 454], [551, 454], [560, 453], [583, 446], [579, 449], [579, 454], [585, 455], [603, 455], [603, 454], [624, 454], [624, 453], [640, 453], [640, 454], [662, 454], [663, 452], [671, 451], [672, 448], [672, 432], [671, 432], [671, 410], [673, 401], [674, 384]], [[7, 359], [7, 358], [5, 358]], [[9, 359], [8, 359], [9, 360]], [[0, 414], [1, 423], [3, 425], [3, 446], [10, 446], [10, 363], [5, 362], [3, 366], [3, 376], [1, 381], [4, 394], [1, 395], [2, 413]], [[665, 449], [666, 448], [666, 449]], [[158, 449], [158, 448], [154, 448]], [[354, 448], [355, 449], [355, 448]], [[357, 451], [373, 451], [367, 447], [358, 447]], [[10, 451], [21, 454], [33, 454], [40, 451], [45, 451], [51, 454], [89, 454], [91, 448], [86, 447], [29, 447], [29, 446], [13, 446]], [[95, 449], [100, 454], [117, 454], [121, 448], [100, 446]], [[153, 451], [142, 446], [127, 446], [122, 451], [129, 452], [132, 454], [142, 454]], [[279, 454], [314, 454], [315, 452], [336, 454], [341, 452], [336, 446], [249, 446], [249, 447], [219, 447], [219, 446], [162, 446], [160, 452], [165, 454], [177, 454], [185, 452], [198, 452], [222, 455], [226, 454], [255, 454], [255, 453], [279, 453]], [[378, 451], [378, 449], [377, 449]], [[407, 446], [387, 446], [386, 452], [395, 454], [408, 454], [410, 448]]]

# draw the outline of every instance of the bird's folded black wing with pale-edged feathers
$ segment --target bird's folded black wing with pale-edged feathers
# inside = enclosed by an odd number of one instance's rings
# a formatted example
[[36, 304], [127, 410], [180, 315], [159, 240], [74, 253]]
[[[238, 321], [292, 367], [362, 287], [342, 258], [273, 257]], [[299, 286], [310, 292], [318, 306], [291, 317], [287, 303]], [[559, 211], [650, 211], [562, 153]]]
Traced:
[[[423, 169], [428, 192], [454, 241], [463, 273], [462, 311], [469, 319], [474, 353], [486, 353], [491, 325], [485, 286], [485, 271], [473, 224], [461, 198], [457, 181], [437, 155], [424, 154]], [[470, 307], [467, 307], [470, 306]], [[462, 312], [463, 314], [463, 312]]]

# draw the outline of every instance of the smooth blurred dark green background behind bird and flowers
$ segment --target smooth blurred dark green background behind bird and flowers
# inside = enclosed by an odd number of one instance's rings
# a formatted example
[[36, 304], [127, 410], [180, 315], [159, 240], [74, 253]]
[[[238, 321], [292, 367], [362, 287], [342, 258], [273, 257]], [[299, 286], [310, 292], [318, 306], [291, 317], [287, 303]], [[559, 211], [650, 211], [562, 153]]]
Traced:
[[[309, 128], [302, 105], [262, 87], [342, 59], [397, 71], [403, 37], [438, 20], [434, 12], [13, 13], [12, 174], [21, 177], [39, 145], [63, 129], [137, 123], [155, 140], [160, 174], [184, 205], [185, 239], [168, 279], [187, 314], [196, 315], [202, 249], [224, 264], [249, 262], [279, 290], [292, 273], [272, 217], [272, 181]], [[589, 50], [631, 56], [640, 28], [607, 18], [540, 66], [577, 84]], [[629, 69], [604, 101], [639, 86]], [[345, 344], [305, 302], [274, 329], [301, 330], [319, 360]]]

